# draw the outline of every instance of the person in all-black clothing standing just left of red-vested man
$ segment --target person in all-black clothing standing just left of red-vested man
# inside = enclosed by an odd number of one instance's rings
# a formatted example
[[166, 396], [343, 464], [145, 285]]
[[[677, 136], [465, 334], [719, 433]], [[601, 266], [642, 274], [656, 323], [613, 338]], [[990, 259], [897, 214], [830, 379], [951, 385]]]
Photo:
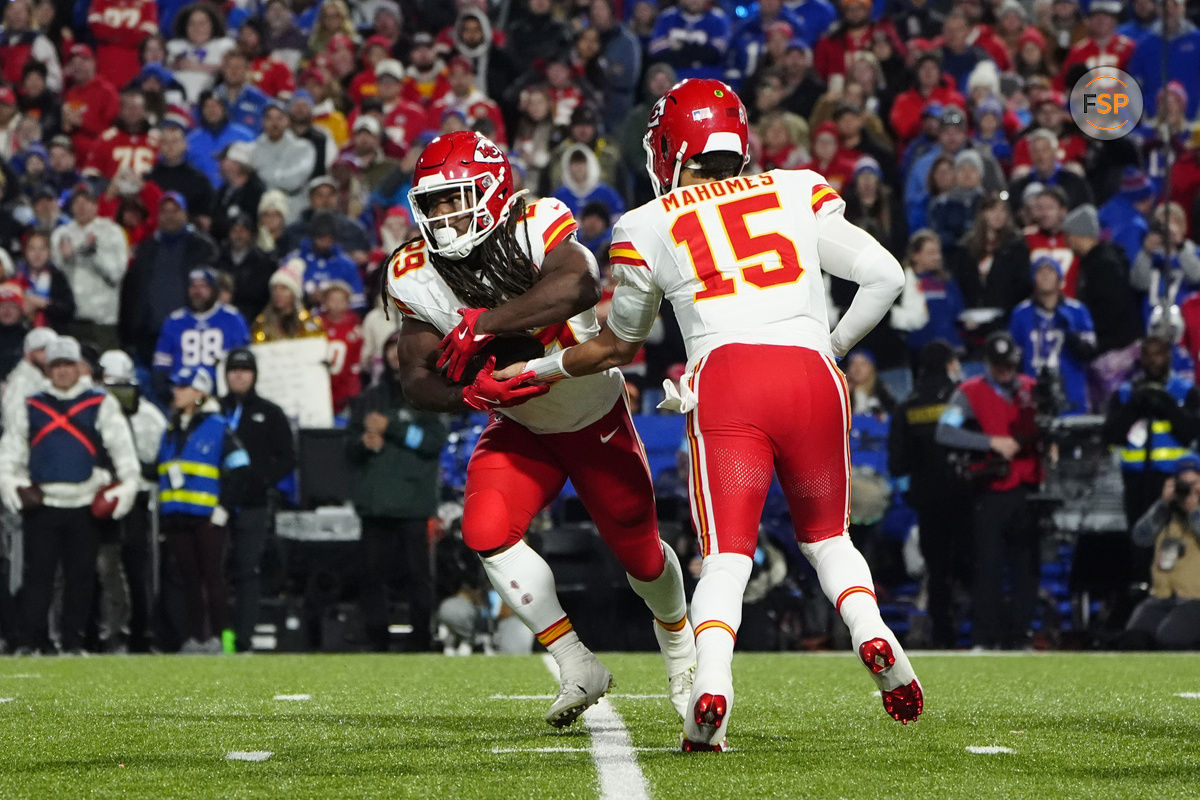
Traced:
[[905, 500], [917, 512], [920, 554], [932, 622], [930, 644], [956, 643], [954, 582], [967, 579], [971, 540], [962, 528], [971, 519], [971, 495], [961, 486], [946, 451], [935, 440], [937, 421], [958, 389], [962, 367], [954, 349], [934, 339], [917, 356], [917, 387], [893, 413], [888, 433], [888, 471], [907, 479]]

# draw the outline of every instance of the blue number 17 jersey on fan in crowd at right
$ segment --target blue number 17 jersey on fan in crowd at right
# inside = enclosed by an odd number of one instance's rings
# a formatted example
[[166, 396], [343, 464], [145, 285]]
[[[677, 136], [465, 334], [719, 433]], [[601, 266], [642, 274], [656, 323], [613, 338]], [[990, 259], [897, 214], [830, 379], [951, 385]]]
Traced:
[[1074, 337], [1096, 345], [1096, 327], [1087, 306], [1062, 297], [1057, 307], [1046, 311], [1031, 300], [1013, 309], [1009, 332], [1021, 348], [1021, 372], [1033, 378], [1043, 367], [1058, 373], [1067, 397], [1063, 414], [1087, 413], [1087, 366], [1072, 353]]

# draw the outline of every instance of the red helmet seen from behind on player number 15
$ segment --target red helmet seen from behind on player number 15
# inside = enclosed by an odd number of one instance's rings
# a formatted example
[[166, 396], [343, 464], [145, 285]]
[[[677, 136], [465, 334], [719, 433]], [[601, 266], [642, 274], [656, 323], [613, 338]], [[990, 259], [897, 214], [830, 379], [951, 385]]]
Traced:
[[702, 152], [737, 152], [750, 161], [746, 107], [712, 78], [680, 80], [650, 110], [642, 148], [654, 194], [679, 185], [679, 170]]

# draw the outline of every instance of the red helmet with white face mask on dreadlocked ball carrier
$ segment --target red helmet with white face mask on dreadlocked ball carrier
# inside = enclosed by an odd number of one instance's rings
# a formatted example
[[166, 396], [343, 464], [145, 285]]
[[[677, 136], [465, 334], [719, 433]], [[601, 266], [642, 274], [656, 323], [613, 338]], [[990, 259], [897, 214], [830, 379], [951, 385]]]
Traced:
[[[428, 216], [436, 196], [456, 191], [460, 210]], [[504, 224], [520, 194], [503, 150], [474, 131], [455, 131], [430, 142], [416, 160], [408, 201], [430, 252], [457, 261]], [[470, 227], [460, 234], [450, 222], [464, 215]]]

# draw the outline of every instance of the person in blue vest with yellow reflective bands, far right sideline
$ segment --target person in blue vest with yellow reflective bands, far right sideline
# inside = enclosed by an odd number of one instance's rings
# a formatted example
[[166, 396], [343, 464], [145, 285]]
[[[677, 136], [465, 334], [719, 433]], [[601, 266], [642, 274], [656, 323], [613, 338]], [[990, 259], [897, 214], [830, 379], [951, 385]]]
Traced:
[[1104, 419], [1105, 444], [1121, 450], [1130, 528], [1158, 499], [1200, 435], [1200, 391], [1189, 378], [1171, 373], [1171, 343], [1147, 336], [1140, 360], [1141, 375], [1117, 389]]

